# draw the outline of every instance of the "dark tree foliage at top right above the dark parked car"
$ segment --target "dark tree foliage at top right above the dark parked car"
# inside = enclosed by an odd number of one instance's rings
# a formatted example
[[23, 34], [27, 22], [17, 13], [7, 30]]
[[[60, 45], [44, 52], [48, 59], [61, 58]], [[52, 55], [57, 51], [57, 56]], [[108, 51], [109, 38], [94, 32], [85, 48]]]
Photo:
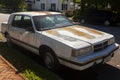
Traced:
[[[115, 13], [120, 13], [120, 0], [74, 0], [74, 2], [79, 3], [81, 6], [80, 10], [74, 11], [74, 20], [79, 20], [81, 15], [89, 13], [92, 10], [103, 10], [109, 9]], [[108, 5], [111, 7], [108, 8]]]

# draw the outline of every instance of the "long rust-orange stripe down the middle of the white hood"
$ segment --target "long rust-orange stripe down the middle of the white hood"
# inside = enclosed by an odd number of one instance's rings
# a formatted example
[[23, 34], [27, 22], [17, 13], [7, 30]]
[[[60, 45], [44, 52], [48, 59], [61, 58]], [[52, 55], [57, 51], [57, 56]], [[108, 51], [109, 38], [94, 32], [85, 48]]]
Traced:
[[62, 28], [62, 30], [71, 32], [71, 33], [73, 33], [75, 35], [82, 36], [82, 37], [85, 37], [85, 38], [88, 38], [88, 39], [95, 38], [94, 36], [92, 36], [90, 34], [87, 34], [87, 33], [84, 33], [84, 32], [78, 31], [78, 30], [75, 30], [75, 29], [73, 29], [73, 27]]

